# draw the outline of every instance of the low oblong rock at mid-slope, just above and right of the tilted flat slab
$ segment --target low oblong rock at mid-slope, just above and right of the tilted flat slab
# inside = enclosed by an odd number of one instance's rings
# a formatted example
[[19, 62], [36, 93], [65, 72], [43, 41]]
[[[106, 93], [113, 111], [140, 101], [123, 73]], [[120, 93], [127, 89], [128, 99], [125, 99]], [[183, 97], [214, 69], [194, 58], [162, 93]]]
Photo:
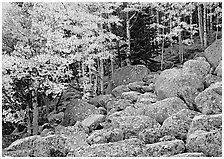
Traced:
[[106, 108], [107, 111], [110, 111], [111, 109], [114, 109], [115, 111], [121, 111], [131, 105], [132, 105], [131, 102], [128, 100], [118, 99], [108, 102]]

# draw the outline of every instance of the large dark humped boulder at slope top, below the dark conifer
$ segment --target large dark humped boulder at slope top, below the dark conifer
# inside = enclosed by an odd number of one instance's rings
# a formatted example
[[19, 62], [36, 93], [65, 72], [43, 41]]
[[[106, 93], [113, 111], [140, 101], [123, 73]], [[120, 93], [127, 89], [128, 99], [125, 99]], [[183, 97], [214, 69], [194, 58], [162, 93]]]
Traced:
[[125, 66], [114, 71], [111, 78], [111, 90], [119, 85], [127, 85], [132, 82], [142, 81], [149, 73], [144, 65]]

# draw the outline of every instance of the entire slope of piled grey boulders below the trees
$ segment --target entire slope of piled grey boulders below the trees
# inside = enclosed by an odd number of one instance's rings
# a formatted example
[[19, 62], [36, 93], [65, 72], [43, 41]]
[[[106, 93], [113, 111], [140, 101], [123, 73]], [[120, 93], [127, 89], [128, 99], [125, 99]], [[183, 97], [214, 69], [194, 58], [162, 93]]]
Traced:
[[72, 99], [61, 124], [16, 140], [3, 156], [221, 157], [220, 41], [181, 69], [118, 69], [106, 95]]

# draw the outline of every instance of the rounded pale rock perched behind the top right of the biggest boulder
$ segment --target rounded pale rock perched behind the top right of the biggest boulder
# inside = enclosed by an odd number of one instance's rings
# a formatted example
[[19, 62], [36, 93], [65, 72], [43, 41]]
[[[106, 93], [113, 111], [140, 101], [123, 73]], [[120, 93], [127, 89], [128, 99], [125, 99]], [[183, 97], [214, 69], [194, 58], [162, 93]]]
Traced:
[[196, 74], [204, 78], [210, 71], [210, 64], [205, 61], [188, 60], [183, 64], [183, 74]]

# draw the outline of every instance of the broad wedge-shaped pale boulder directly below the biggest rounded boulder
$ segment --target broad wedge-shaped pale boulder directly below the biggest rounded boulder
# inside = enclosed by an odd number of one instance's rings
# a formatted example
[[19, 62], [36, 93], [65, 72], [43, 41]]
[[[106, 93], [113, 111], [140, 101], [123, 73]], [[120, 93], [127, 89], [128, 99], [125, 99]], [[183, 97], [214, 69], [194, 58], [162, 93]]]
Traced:
[[167, 98], [145, 108], [145, 115], [162, 124], [169, 116], [187, 108], [187, 105], [177, 97]]

